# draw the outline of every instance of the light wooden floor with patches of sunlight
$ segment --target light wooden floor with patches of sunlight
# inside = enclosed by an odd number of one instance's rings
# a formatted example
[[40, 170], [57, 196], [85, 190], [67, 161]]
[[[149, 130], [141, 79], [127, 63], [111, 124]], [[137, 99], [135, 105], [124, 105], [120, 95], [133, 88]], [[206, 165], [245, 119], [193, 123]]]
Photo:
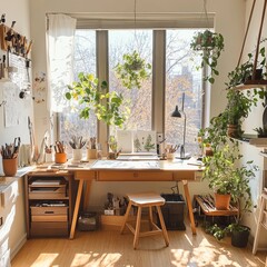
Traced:
[[132, 249], [132, 235], [117, 230], [77, 231], [73, 240], [65, 238], [29, 239], [14, 257], [12, 267], [168, 267], [168, 266], [265, 266], [266, 253], [251, 254], [251, 247], [234, 248], [226, 238], [214, 237], [197, 228], [192, 236], [185, 231], [168, 231], [170, 246], [161, 236], [141, 238]]

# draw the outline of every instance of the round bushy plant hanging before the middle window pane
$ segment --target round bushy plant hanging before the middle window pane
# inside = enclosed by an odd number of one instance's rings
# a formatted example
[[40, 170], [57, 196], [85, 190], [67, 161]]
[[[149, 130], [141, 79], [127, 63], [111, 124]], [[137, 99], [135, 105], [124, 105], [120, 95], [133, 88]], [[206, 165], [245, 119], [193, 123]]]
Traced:
[[115, 67], [115, 71], [121, 83], [127, 89], [141, 88], [141, 82], [151, 76], [151, 65], [135, 50], [132, 53], [125, 53], [123, 62]]

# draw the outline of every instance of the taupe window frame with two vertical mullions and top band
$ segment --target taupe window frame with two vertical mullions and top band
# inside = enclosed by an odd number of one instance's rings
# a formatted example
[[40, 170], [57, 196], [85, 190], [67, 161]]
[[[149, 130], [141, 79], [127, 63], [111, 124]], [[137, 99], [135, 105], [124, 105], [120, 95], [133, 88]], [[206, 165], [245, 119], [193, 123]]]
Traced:
[[[166, 30], [167, 29], [198, 29], [212, 28], [214, 14], [209, 14], [209, 20], [197, 18], [196, 14], [184, 16], [181, 13], [171, 14], [149, 14], [148, 18], [139, 14], [142, 20], [134, 22], [129, 16], [115, 14], [116, 18], [101, 18], [101, 14], [69, 14], [77, 18], [77, 29], [95, 29], [96, 30], [96, 55], [97, 55], [97, 77], [100, 80], [109, 80], [109, 63], [108, 63], [108, 30], [113, 29], [152, 29], [152, 107], [151, 107], [151, 130], [165, 135], [165, 91], [166, 91]], [[205, 73], [207, 68], [202, 69]], [[202, 119], [201, 126], [205, 126], [209, 120], [208, 103], [210, 99], [209, 86], [202, 79]], [[156, 108], [157, 107], [157, 108]], [[56, 136], [59, 137], [58, 116], [56, 116]], [[98, 142], [101, 144], [102, 154], [108, 152], [108, 136], [109, 127], [102, 121], [98, 121]]]

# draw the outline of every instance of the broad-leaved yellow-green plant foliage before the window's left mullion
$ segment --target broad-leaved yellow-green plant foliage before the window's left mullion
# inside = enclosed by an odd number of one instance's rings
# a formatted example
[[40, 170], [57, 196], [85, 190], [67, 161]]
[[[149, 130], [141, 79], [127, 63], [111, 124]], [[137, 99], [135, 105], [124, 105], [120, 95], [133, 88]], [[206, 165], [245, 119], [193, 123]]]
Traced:
[[[127, 111], [122, 109], [122, 95], [112, 91], [108, 92], [107, 81], [99, 85], [99, 80], [91, 73], [80, 72], [79, 81], [75, 81], [68, 86], [69, 91], [66, 98], [73, 103], [82, 106], [80, 118], [89, 119], [92, 111], [98, 120], [102, 120], [107, 125], [122, 127]], [[73, 108], [75, 106], [73, 105]]]

